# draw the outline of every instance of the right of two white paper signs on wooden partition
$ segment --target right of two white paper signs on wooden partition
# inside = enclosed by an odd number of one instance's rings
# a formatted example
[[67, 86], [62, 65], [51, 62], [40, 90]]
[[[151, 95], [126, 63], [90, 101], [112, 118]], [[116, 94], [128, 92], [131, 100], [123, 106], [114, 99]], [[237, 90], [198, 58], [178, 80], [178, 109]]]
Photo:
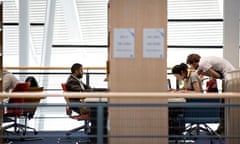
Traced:
[[163, 58], [164, 31], [161, 28], [146, 28], [143, 30], [143, 57]]

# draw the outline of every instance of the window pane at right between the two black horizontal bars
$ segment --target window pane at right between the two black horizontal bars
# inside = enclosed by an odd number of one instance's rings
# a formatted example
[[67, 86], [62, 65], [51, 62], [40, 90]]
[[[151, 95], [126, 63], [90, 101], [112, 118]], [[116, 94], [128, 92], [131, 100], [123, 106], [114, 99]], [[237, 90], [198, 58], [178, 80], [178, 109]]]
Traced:
[[219, 46], [222, 22], [168, 22], [168, 45]]

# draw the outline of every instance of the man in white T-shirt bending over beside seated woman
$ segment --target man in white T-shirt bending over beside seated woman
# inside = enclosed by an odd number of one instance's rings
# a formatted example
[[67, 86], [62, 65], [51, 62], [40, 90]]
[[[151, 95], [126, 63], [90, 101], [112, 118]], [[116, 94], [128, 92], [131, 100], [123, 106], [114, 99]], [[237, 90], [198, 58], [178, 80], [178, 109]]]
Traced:
[[198, 74], [216, 79], [226, 79], [227, 73], [235, 70], [229, 61], [216, 56], [201, 57], [198, 54], [190, 54], [186, 61]]

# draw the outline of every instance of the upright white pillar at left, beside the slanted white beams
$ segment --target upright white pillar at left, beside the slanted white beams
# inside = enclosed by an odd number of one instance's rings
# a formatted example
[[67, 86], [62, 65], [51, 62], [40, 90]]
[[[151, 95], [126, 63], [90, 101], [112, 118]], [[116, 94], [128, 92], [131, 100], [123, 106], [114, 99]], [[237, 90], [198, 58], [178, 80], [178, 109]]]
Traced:
[[19, 0], [19, 66], [28, 66], [29, 34], [29, 1]]

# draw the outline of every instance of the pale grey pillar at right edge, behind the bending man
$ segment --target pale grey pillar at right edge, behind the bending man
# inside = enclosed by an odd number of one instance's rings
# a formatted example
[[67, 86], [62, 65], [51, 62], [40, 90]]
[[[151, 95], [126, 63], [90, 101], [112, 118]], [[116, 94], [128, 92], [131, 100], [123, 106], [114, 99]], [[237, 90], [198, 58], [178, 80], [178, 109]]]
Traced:
[[239, 0], [224, 0], [223, 57], [239, 68]]

